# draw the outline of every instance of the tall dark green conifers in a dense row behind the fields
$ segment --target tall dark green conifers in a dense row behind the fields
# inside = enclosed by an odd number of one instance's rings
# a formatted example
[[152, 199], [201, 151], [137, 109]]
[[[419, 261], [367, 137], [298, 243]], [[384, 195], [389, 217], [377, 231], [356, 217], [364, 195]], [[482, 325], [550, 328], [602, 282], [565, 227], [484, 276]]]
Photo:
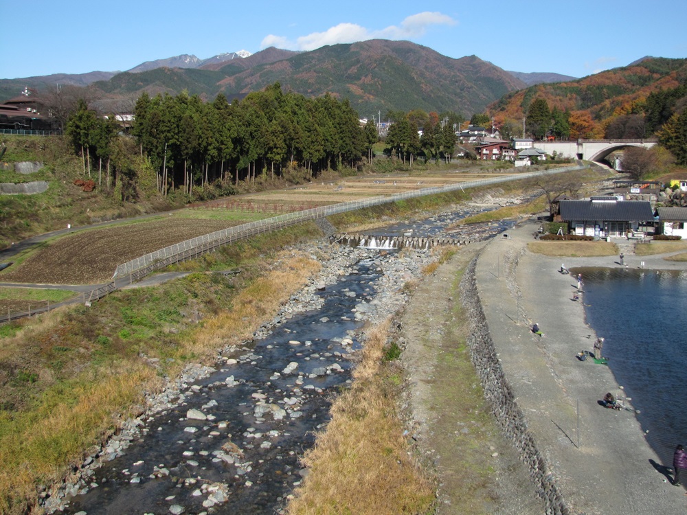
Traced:
[[133, 139], [122, 143], [119, 132], [113, 116], [99, 117], [84, 100], [65, 124], [89, 177], [97, 161], [99, 177], [104, 168], [109, 183], [111, 158], [122, 178], [131, 175], [131, 148], [128, 156], [124, 148], [135, 141], [163, 195], [172, 190], [191, 195], [197, 185], [215, 181], [238, 185], [268, 174], [273, 179], [286, 169], [300, 168], [313, 177], [357, 168], [372, 158], [378, 140], [374, 122], [361, 127], [348, 100], [284, 93], [278, 83], [231, 103], [223, 94], [203, 102], [187, 93], [153, 98], [143, 93], [134, 108]]

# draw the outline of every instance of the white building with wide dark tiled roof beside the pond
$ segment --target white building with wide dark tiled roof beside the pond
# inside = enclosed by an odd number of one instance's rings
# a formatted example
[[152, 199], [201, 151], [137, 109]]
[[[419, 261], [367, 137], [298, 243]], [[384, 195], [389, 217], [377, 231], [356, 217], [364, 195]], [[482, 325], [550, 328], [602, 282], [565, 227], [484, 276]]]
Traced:
[[561, 222], [568, 230], [581, 236], [627, 236], [628, 233], [653, 233], [654, 216], [651, 203], [619, 201], [613, 196], [592, 197], [584, 201], [559, 202]]

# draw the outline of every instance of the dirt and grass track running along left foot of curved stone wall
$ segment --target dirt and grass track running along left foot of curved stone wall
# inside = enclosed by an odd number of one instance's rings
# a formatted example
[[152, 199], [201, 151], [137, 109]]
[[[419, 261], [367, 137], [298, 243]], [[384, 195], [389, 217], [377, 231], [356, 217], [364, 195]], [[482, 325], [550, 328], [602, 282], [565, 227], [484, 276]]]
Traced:
[[541, 514], [543, 503], [499, 433], [467, 351], [458, 289], [484, 244], [423, 279], [401, 317], [413, 437], [436, 473], [440, 514]]

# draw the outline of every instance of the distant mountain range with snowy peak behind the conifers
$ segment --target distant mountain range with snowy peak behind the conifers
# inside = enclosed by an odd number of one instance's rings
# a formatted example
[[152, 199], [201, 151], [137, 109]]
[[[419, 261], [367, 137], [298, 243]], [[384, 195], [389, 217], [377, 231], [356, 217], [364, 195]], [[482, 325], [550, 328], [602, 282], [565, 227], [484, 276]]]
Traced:
[[[331, 93], [346, 98], [361, 117], [389, 110], [455, 111], [466, 117], [532, 84], [570, 82], [556, 73], [505, 71], [477, 56], [449, 58], [409, 41], [370, 40], [328, 45], [311, 52], [270, 47], [249, 54], [229, 52], [207, 59], [192, 55], [144, 62], [124, 72], [0, 80], [0, 101], [25, 87], [38, 91], [56, 84], [89, 87], [105, 111], [122, 112], [144, 91], [150, 95], [188, 91], [212, 100], [259, 91], [279, 82], [306, 96]], [[131, 107], [129, 107], [131, 108]]]

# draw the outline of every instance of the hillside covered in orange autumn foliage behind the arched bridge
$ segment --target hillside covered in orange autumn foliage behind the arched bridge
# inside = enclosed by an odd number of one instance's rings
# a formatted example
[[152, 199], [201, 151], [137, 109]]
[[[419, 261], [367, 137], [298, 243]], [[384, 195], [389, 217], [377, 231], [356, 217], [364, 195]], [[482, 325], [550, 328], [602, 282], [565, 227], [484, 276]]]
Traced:
[[[571, 82], [537, 84], [510, 93], [491, 104], [488, 114], [494, 117], [498, 126], [521, 126], [523, 119], [530, 116], [533, 102], [544, 100], [552, 113], [547, 137], [655, 137], [656, 131], [666, 122], [664, 113], [651, 113], [652, 109], [665, 111], [666, 102], [663, 99], [657, 102], [657, 97], [664, 91], [678, 91], [685, 84], [687, 59], [651, 58]], [[657, 106], [657, 103], [662, 105]], [[675, 108], [673, 104], [671, 110]], [[556, 113], [565, 113], [569, 126], [565, 130], [553, 130]], [[528, 133], [541, 137], [529, 126]]]

